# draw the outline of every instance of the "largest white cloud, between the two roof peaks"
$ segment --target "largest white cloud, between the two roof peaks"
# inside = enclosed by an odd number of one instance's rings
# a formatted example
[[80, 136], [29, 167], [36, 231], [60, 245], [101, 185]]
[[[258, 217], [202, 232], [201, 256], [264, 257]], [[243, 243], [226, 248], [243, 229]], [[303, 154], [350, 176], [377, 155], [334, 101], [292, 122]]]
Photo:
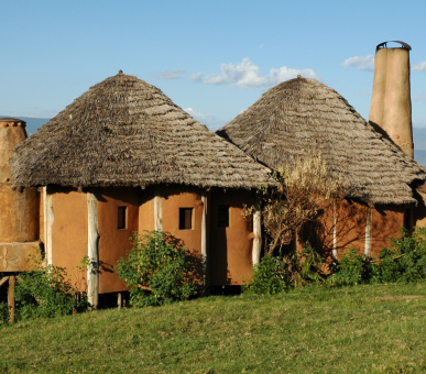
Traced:
[[240, 88], [251, 88], [274, 86], [298, 75], [317, 78], [313, 69], [293, 69], [286, 66], [272, 68], [267, 75], [262, 75], [260, 67], [254, 65], [249, 57], [243, 58], [238, 65], [221, 64], [220, 70], [220, 74], [196, 73], [192, 79], [205, 85], [231, 85]]

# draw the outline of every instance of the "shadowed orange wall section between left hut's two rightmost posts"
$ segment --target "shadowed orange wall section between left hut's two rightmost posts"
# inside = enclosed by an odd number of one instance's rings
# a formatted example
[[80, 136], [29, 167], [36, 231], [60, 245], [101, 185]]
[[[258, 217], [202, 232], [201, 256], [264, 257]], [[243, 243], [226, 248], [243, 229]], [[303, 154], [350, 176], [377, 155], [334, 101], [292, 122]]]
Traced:
[[243, 204], [254, 204], [254, 196], [241, 190], [211, 191], [207, 254], [210, 286], [241, 285], [252, 277], [253, 229], [242, 215]]

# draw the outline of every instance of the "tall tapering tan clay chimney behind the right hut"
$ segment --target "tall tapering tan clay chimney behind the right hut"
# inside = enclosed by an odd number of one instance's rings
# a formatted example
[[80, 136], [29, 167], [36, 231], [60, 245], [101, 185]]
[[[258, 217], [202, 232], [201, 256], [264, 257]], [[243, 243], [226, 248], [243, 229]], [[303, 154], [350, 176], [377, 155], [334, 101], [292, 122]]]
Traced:
[[[387, 42], [386, 42], [387, 43]], [[378, 45], [374, 61], [370, 122], [413, 157], [412, 102], [409, 92], [409, 45], [387, 48]]]

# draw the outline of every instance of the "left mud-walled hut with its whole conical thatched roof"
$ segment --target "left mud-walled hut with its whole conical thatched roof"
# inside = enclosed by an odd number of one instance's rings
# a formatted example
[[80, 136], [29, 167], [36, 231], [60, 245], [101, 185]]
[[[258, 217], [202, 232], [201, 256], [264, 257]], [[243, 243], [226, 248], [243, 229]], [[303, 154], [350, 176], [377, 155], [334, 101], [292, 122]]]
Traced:
[[207, 286], [251, 276], [261, 239], [243, 204], [270, 169], [136, 77], [120, 72], [91, 87], [18, 145], [11, 165], [15, 188], [41, 187], [47, 262], [70, 270], [89, 256], [94, 305], [125, 289], [113, 266], [134, 231], [184, 240], [206, 264]]

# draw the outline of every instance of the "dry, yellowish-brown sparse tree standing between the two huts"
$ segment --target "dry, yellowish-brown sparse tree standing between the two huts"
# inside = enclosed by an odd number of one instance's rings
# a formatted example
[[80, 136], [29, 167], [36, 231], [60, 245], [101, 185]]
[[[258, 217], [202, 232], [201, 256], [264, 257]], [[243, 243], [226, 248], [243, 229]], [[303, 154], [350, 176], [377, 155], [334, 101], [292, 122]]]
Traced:
[[[274, 177], [277, 186], [263, 188], [262, 220], [269, 237], [266, 254], [282, 251], [308, 221], [315, 220], [321, 209], [343, 197], [349, 185], [331, 175], [320, 154], [307, 154], [280, 167]], [[251, 208], [253, 209], [253, 208]]]

